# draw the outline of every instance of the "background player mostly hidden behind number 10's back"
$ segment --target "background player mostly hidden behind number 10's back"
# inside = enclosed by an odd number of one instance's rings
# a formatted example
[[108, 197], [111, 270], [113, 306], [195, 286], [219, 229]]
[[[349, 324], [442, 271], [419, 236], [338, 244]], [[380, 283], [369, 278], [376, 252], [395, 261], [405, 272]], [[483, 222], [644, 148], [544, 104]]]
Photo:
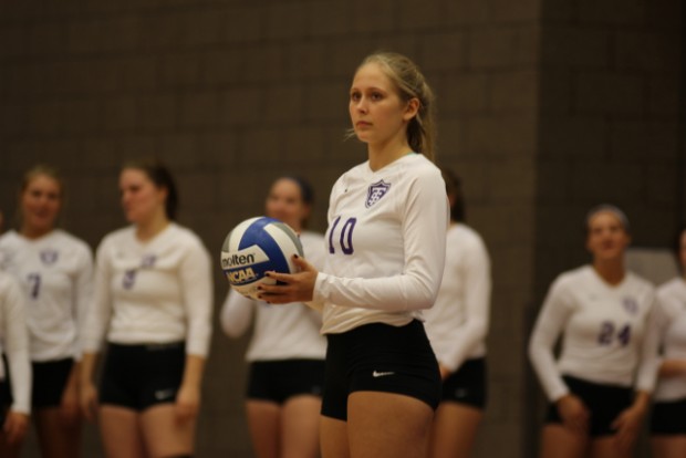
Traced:
[[426, 311], [443, 378], [443, 397], [432, 428], [430, 458], [471, 456], [486, 407], [486, 334], [490, 311], [490, 259], [481, 237], [465, 223], [457, 176], [443, 169], [450, 202], [446, 266], [438, 298]]

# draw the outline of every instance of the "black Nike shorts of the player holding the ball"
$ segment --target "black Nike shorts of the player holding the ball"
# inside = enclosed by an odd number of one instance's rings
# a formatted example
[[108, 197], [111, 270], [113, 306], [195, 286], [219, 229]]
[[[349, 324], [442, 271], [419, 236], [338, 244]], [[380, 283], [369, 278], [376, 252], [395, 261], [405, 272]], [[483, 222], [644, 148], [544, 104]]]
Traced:
[[346, 420], [354, 392], [396, 393], [438, 406], [440, 373], [422, 322], [365, 324], [326, 339], [323, 416]]

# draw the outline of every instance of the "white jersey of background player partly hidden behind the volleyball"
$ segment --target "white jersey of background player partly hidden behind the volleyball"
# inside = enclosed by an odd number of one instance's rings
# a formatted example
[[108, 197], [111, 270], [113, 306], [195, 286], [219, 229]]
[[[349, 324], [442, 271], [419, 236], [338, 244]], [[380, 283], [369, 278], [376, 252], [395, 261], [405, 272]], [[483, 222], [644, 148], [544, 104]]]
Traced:
[[[324, 237], [310, 231], [300, 235], [304, 257], [321, 269]], [[322, 314], [303, 303], [269, 305], [229, 291], [221, 309], [221, 326], [227, 335], [238, 337], [249, 327], [254, 312], [254, 329], [246, 360], [281, 361], [290, 358], [323, 360], [326, 340], [320, 334]]]

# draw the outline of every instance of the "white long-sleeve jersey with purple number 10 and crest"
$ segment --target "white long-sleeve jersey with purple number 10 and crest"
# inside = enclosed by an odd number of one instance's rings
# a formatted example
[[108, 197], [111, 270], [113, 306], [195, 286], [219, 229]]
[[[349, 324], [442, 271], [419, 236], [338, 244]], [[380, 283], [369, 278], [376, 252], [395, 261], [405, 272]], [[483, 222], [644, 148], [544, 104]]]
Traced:
[[448, 215], [440, 171], [424, 155], [343, 174], [331, 191], [326, 259], [314, 287], [322, 333], [422, 319], [440, 285]]

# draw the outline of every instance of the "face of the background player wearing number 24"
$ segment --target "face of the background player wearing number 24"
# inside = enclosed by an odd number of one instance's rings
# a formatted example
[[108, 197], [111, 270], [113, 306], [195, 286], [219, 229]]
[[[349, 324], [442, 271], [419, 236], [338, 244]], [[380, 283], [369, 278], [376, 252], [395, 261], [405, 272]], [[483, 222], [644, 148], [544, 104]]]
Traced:
[[599, 211], [589, 221], [586, 248], [596, 261], [621, 258], [630, 242], [624, 225], [612, 211]]

